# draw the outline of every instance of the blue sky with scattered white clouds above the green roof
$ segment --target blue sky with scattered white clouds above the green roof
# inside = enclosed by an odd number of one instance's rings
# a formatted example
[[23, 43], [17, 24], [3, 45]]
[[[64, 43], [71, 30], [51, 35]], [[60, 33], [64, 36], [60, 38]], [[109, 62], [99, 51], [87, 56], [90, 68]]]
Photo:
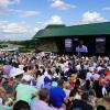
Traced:
[[0, 0], [0, 41], [31, 40], [48, 24], [110, 21], [110, 0]]

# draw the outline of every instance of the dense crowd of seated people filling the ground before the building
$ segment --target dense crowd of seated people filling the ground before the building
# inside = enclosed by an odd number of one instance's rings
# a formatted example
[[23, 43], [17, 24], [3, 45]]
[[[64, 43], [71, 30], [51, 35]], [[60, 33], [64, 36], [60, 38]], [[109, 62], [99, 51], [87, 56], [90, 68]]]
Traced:
[[110, 57], [0, 52], [0, 110], [107, 110]]

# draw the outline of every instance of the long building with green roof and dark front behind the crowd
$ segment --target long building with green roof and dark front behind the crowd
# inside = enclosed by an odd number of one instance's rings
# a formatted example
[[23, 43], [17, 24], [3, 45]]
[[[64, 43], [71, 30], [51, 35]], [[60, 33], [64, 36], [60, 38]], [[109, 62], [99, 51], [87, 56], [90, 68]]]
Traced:
[[110, 22], [81, 25], [48, 25], [35, 35], [37, 51], [65, 53], [75, 52], [78, 41], [82, 40], [88, 53], [110, 52]]

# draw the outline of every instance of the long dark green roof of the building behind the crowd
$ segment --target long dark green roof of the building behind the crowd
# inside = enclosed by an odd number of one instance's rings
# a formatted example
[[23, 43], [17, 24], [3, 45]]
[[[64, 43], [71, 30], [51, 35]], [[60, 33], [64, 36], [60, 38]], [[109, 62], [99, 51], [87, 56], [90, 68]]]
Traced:
[[44, 30], [40, 30], [34, 38], [40, 37], [58, 37], [58, 36], [76, 36], [76, 35], [106, 35], [110, 34], [110, 22], [92, 23], [82, 25], [48, 25]]

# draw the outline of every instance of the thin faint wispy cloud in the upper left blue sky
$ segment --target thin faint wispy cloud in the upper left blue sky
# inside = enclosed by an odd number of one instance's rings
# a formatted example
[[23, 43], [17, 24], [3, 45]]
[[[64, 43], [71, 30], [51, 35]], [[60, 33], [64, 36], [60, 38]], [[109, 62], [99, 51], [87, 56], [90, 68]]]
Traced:
[[14, 10], [14, 9], [10, 9], [9, 12], [18, 14], [20, 18], [34, 16], [41, 13], [37, 10]]

